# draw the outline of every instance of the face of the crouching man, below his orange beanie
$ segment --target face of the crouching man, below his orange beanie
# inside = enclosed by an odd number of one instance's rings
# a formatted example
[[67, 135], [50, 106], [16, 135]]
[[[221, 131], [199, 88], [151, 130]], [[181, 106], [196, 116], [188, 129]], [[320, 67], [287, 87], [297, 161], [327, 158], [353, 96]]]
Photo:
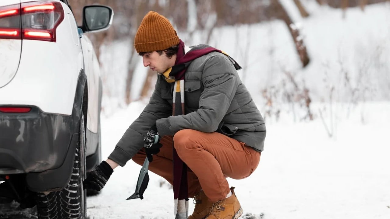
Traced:
[[158, 52], [152, 51], [145, 53], [142, 56], [142, 61], [144, 62], [145, 67], [149, 66], [152, 71], [163, 73], [165, 70], [175, 65], [176, 56], [168, 58], [165, 52], [160, 55]]

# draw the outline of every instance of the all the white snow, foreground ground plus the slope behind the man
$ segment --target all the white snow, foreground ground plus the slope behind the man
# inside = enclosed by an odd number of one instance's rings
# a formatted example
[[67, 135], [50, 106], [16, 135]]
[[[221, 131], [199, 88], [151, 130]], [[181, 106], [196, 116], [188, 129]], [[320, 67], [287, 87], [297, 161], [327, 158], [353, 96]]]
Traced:
[[[282, 3], [307, 45], [311, 60], [306, 68], [302, 69], [282, 21], [217, 28], [209, 44], [226, 51], [243, 67], [241, 79], [263, 115], [261, 90], [277, 86], [285, 71], [296, 75], [310, 90], [314, 120], [300, 121], [296, 118], [301, 109], [277, 102], [282, 113], [278, 120], [266, 120], [266, 143], [257, 170], [243, 180], [228, 179], [229, 184], [236, 187], [244, 214], [256, 219], [388, 219], [390, 4], [369, 5], [364, 12], [348, 9], [343, 19], [340, 9], [320, 7], [315, 1], [303, 1], [308, 18], [300, 18], [292, 1]], [[179, 35], [188, 45], [207, 39], [199, 32]], [[126, 46], [122, 42], [116, 48]], [[118, 58], [113, 59], [118, 68], [115, 74], [126, 69], [126, 62]], [[140, 63], [133, 81], [137, 89], [145, 78], [142, 69]], [[349, 85], [343, 81], [346, 72]], [[335, 87], [333, 99], [329, 98], [331, 87]], [[354, 88], [358, 94], [351, 93]], [[117, 96], [123, 96], [120, 89], [115, 84]], [[105, 105], [110, 113], [101, 118], [103, 157], [112, 152], [145, 104], [147, 100], [132, 102], [127, 108]], [[173, 218], [172, 188], [150, 171], [144, 200], [126, 200], [135, 191], [140, 168], [133, 161], [116, 168], [102, 193], [88, 198], [89, 218]], [[190, 212], [193, 206], [190, 200]]]

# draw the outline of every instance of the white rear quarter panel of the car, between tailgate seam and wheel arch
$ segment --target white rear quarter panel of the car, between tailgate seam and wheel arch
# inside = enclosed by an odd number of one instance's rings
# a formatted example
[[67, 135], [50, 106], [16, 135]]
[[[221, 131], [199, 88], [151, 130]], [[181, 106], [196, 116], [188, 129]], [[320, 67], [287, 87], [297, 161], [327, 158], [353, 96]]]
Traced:
[[[65, 18], [57, 27], [57, 42], [23, 40], [18, 72], [0, 89], [0, 104], [34, 105], [46, 113], [71, 115], [83, 63], [80, 46], [74, 45], [73, 37], [69, 37], [70, 10], [66, 5], [63, 7]], [[77, 30], [76, 24], [72, 28]]]

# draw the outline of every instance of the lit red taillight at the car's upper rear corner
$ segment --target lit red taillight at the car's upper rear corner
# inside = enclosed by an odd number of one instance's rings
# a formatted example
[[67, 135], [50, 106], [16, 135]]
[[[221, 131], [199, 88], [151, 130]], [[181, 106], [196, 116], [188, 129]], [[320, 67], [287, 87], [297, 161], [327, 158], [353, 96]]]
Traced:
[[26, 2], [0, 7], [0, 38], [55, 42], [57, 26], [64, 17], [60, 2]]

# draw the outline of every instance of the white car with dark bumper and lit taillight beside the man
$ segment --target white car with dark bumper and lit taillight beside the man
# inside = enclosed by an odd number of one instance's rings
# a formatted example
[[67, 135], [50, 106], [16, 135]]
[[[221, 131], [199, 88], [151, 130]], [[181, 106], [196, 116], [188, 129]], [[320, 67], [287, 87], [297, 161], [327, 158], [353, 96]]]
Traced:
[[99, 63], [85, 32], [113, 11], [67, 0], [0, 1], [0, 196], [39, 218], [85, 218], [82, 180], [101, 161]]

